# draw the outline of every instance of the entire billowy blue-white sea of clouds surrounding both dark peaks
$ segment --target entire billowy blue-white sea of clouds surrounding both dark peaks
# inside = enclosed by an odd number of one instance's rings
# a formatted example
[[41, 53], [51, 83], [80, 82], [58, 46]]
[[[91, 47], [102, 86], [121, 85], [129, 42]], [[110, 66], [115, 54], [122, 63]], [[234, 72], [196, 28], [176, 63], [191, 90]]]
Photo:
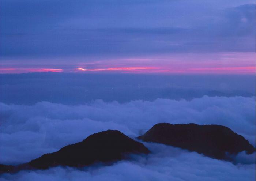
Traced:
[[[96, 100], [81, 105], [1, 103], [0, 108], [3, 164], [25, 163], [107, 129], [135, 139], [159, 122], [225, 125], [255, 146], [255, 97], [203, 96], [190, 101], [128, 103]], [[162, 144], [145, 145], [152, 154], [112, 166], [20, 171], [3, 174], [1, 180], [255, 180], [255, 154], [242, 152], [233, 164]]]

